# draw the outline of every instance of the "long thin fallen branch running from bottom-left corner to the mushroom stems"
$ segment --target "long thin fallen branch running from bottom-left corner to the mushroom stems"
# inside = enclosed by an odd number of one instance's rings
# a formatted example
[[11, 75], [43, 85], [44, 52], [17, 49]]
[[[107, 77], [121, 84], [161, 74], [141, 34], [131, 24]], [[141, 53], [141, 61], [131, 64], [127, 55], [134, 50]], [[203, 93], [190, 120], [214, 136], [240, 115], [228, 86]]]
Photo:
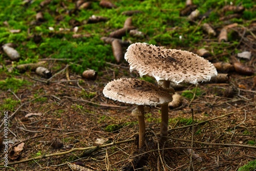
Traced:
[[[106, 147], [106, 146], [112, 146], [112, 145], [122, 144], [122, 143], [126, 143], [126, 142], [132, 142], [132, 141], [135, 141], [135, 139], [112, 142], [112, 143], [104, 144], [104, 145], [101, 145], [101, 146], [90, 146], [90, 147], [85, 147], [85, 148], [73, 148], [73, 149], [71, 149], [69, 151], [66, 151], [66, 152], [53, 153], [53, 154], [44, 155], [44, 156], [37, 156], [37, 157], [26, 159], [26, 160], [20, 160], [20, 161], [8, 163], [8, 166], [14, 165], [14, 164], [19, 164], [19, 163], [26, 163], [26, 162], [29, 162], [29, 161], [38, 160], [38, 159], [42, 159], [42, 158], [66, 155], [66, 154], [69, 154], [69, 153], [72, 153], [72, 152], [75, 152], [75, 151], [86, 151], [86, 150], [94, 149], [94, 148], [100, 149], [100, 148], [103, 148], [103, 147]], [[0, 166], [4, 166], [4, 165], [5, 164], [0, 164]]]

